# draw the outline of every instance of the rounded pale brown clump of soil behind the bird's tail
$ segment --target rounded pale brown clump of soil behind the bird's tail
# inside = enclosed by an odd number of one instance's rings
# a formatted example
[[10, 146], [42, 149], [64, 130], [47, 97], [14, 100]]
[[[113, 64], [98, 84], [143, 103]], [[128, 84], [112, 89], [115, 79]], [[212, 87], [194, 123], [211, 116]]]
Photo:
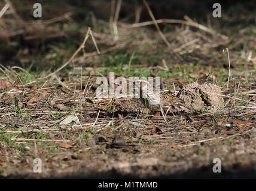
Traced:
[[221, 94], [221, 87], [215, 84], [192, 84], [185, 85], [179, 91], [177, 97], [185, 101], [196, 113], [216, 112], [224, 107], [224, 100]]

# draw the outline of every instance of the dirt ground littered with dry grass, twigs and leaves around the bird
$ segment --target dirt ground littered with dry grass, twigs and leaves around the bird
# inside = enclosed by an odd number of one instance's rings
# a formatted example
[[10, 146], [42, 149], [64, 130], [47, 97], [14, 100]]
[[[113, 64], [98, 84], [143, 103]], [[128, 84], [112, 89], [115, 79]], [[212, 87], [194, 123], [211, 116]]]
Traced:
[[[167, 45], [151, 20], [124, 17], [116, 34], [114, 20], [89, 19], [88, 29], [63, 8], [54, 14], [66, 19], [17, 22], [24, 10], [14, 8], [0, 29], [1, 178], [256, 177], [254, 12], [163, 21]], [[138, 98], [96, 98], [109, 72], [160, 76], [191, 109], [169, 112], [166, 124]]]

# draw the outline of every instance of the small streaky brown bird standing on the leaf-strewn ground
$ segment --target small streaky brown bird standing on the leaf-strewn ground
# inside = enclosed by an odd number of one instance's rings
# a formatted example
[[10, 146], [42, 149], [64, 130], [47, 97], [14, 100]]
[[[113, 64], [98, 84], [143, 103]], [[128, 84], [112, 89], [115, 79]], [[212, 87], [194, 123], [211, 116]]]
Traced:
[[[169, 110], [175, 109], [175, 106], [183, 106], [188, 108], [184, 101], [180, 98], [173, 96], [166, 91], [160, 90], [156, 91], [153, 85], [150, 84], [146, 79], [139, 79], [139, 91], [140, 100], [145, 107], [150, 109], [151, 112], [159, 111], [163, 115], [164, 121], [166, 121], [166, 115]], [[137, 85], [138, 86], [138, 85]], [[166, 115], [164, 115], [163, 110], [167, 110]]]

